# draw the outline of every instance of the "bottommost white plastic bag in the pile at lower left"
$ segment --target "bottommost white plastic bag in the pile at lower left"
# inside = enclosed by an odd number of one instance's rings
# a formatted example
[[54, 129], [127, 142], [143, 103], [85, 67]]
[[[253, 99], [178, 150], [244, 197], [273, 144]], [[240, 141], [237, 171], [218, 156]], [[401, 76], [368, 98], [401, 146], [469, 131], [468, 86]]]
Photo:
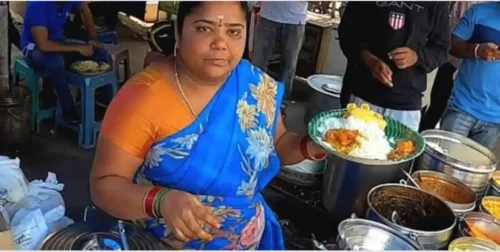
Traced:
[[20, 209], [11, 222], [12, 236], [18, 250], [35, 250], [49, 234], [40, 209]]

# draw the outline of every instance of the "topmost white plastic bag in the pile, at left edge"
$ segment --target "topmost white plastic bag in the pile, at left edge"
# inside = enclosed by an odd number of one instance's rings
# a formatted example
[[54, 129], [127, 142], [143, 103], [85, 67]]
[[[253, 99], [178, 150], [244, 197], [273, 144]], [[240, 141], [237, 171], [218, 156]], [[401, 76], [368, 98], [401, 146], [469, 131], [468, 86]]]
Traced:
[[0, 156], [0, 191], [7, 190], [4, 195], [7, 202], [18, 202], [28, 193], [28, 181], [19, 167], [20, 163], [19, 158]]

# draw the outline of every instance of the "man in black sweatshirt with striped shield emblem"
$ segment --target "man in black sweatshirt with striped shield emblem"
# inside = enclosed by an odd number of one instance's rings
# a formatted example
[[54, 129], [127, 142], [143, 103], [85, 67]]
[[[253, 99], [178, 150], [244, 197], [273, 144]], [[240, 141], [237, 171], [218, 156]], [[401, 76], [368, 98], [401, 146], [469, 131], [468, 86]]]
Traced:
[[[342, 98], [418, 130], [427, 73], [448, 60], [449, 2], [349, 2]], [[347, 98], [347, 99], [346, 99]]]

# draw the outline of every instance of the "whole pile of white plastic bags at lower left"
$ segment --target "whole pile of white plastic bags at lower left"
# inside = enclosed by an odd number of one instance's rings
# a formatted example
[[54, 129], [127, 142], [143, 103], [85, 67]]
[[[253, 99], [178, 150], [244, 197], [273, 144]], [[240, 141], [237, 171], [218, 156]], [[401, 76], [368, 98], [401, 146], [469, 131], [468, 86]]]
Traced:
[[45, 181], [28, 182], [19, 158], [0, 156], [0, 214], [10, 225], [16, 248], [35, 250], [51, 233], [73, 221], [65, 216], [64, 184], [49, 172]]

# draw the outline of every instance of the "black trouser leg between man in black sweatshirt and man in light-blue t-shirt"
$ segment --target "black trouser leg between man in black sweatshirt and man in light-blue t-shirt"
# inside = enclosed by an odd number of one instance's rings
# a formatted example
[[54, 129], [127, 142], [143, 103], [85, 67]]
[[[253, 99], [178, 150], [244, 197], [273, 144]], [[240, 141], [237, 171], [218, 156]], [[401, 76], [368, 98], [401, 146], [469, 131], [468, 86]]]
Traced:
[[434, 129], [441, 120], [453, 90], [453, 74], [456, 71], [451, 63], [439, 67], [431, 90], [431, 103], [420, 123], [420, 131]]

